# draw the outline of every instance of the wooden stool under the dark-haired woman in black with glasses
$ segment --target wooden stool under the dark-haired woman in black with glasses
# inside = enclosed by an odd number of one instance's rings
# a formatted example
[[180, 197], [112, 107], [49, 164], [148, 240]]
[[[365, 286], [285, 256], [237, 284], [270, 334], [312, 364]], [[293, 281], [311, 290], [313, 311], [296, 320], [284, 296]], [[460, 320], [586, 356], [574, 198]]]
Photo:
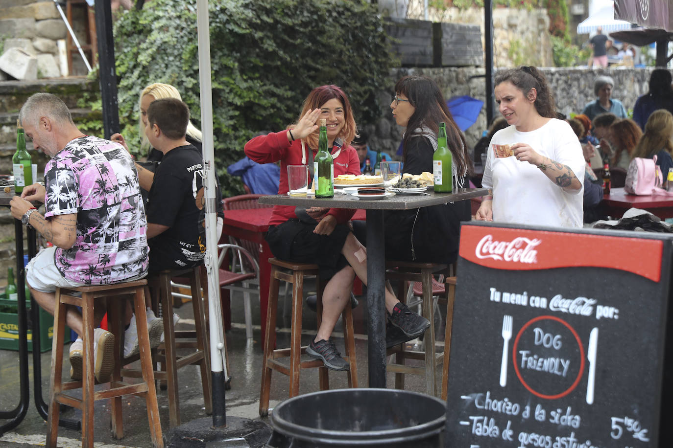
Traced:
[[[423, 302], [421, 304], [422, 316], [430, 321], [430, 328], [423, 337], [425, 350], [406, 350], [405, 344], [391, 347], [386, 355], [395, 354], [395, 362], [386, 365], [386, 369], [395, 372], [395, 388], [404, 389], [404, 375], [425, 375], [425, 390], [428, 395], [439, 394], [439, 382], [437, 381], [437, 365], [444, 360], [444, 352], [437, 353], [435, 350], [435, 320], [433, 318], [433, 273], [445, 273], [447, 265], [438, 263], [415, 263], [406, 261], [391, 261], [386, 263], [386, 278], [398, 281], [398, 299], [406, 301], [406, 287], [408, 281], [420, 281], [423, 285]], [[394, 268], [394, 270], [392, 270]], [[406, 359], [418, 359], [425, 361], [425, 365], [406, 365]]]

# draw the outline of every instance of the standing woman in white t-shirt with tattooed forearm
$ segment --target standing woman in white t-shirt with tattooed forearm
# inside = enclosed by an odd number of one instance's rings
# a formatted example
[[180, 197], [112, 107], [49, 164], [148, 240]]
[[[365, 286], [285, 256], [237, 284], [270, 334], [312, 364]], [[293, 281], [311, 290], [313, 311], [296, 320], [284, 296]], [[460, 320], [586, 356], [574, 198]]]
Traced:
[[[495, 78], [495, 100], [509, 126], [491, 139], [477, 220], [581, 227], [584, 157], [570, 125], [557, 120], [544, 75], [521, 66]], [[509, 145], [511, 155], [495, 145]], [[503, 156], [505, 155], [505, 156]]]

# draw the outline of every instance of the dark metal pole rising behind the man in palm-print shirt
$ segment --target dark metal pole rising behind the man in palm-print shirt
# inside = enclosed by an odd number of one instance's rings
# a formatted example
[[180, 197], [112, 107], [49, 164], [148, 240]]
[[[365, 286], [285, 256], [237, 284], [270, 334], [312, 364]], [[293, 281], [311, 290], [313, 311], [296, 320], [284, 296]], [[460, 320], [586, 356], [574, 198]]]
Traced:
[[112, 38], [112, 10], [109, 0], [96, 0], [96, 36], [98, 38], [98, 66], [100, 97], [103, 107], [105, 138], [119, 132], [117, 107], [117, 77], [114, 71], [114, 39]]

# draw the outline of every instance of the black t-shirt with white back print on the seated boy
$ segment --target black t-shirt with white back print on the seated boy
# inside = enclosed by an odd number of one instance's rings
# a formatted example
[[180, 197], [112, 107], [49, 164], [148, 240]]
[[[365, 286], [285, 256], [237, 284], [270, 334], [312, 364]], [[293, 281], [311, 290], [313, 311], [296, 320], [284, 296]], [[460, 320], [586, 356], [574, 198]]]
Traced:
[[149, 190], [147, 222], [168, 229], [149, 240], [150, 271], [188, 268], [203, 261], [203, 193], [201, 152], [187, 145], [166, 153]]

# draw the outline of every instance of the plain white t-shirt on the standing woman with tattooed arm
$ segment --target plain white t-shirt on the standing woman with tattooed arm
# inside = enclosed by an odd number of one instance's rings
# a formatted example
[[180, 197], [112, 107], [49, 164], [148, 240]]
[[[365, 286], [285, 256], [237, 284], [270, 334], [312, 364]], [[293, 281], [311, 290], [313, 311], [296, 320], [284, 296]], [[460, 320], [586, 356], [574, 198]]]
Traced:
[[581, 228], [583, 187], [566, 191], [528, 162], [495, 157], [493, 144], [515, 143], [529, 144], [538, 154], [567, 165], [583, 183], [582, 148], [567, 122], [553, 118], [531, 132], [508, 126], [491, 139], [482, 180], [483, 187], [493, 189], [493, 221]]

